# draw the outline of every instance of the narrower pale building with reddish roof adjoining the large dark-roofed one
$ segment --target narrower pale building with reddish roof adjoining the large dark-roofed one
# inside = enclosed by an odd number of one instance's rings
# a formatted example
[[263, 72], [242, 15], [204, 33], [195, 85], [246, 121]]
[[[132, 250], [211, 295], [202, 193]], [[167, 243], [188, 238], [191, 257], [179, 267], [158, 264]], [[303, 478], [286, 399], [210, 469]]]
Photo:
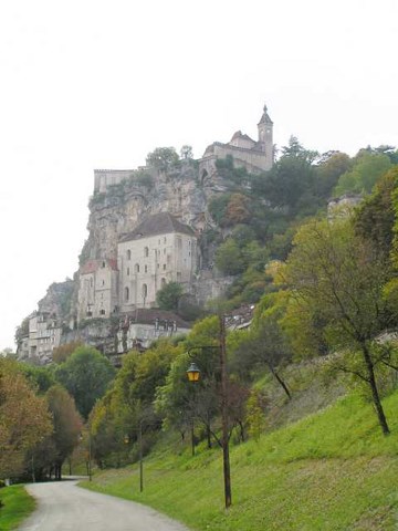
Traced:
[[118, 310], [116, 260], [87, 260], [80, 270], [77, 321], [109, 317]]

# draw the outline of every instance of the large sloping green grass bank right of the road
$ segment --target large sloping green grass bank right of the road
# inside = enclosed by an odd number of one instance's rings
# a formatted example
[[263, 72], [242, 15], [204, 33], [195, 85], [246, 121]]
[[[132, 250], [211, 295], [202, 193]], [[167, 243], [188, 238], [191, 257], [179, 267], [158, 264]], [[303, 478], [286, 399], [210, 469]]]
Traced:
[[211, 531], [389, 531], [398, 527], [398, 393], [384, 399], [391, 435], [369, 404], [339, 398], [323, 412], [231, 448], [232, 507], [223, 509], [222, 459], [177, 442], [138, 467], [97, 473], [84, 487], [148, 504]]

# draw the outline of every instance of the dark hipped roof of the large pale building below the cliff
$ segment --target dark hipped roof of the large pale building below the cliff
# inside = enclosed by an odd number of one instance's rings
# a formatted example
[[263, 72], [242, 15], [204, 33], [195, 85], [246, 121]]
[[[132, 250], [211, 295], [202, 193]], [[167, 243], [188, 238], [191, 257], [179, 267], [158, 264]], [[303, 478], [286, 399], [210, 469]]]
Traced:
[[119, 241], [139, 240], [149, 236], [169, 235], [170, 232], [195, 236], [193, 230], [188, 225], [181, 223], [168, 212], [160, 212], [146, 217], [132, 232], [123, 236]]

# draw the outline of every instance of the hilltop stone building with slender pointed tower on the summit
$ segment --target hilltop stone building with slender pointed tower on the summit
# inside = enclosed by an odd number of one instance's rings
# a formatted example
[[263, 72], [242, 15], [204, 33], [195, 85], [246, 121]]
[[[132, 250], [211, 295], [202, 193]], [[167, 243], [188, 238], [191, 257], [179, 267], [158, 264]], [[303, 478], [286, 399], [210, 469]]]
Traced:
[[231, 156], [237, 167], [244, 167], [249, 173], [258, 174], [271, 169], [273, 165], [273, 122], [264, 105], [258, 124], [258, 140], [238, 131], [227, 144], [214, 142], [206, 148], [199, 160], [200, 178], [216, 173], [216, 160]]

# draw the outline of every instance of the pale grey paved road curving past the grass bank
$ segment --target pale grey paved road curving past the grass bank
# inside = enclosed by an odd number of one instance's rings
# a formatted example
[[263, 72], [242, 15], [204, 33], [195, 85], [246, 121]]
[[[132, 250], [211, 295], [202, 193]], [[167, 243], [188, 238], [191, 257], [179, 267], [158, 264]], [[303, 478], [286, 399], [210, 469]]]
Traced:
[[38, 509], [19, 531], [188, 531], [133, 501], [82, 489], [76, 481], [32, 483]]

